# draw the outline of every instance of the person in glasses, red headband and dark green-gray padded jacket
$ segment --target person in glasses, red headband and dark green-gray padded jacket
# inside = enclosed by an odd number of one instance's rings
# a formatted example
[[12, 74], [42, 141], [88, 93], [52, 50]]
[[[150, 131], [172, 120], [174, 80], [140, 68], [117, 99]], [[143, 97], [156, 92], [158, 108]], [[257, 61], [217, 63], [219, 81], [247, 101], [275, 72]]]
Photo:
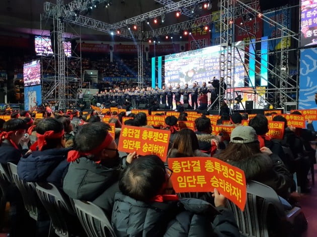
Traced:
[[119, 191], [122, 162], [108, 129], [105, 123], [90, 123], [83, 125], [75, 135], [75, 150], [68, 152], [70, 165], [63, 190], [70, 198], [92, 201], [110, 217], [115, 193]]

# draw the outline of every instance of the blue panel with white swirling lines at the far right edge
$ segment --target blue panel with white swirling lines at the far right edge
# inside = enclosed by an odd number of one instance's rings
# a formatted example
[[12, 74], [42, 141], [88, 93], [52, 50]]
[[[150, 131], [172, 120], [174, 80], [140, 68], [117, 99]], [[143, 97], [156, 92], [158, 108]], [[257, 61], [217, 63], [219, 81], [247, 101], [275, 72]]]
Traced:
[[[300, 50], [299, 109], [317, 108], [317, 48]], [[314, 121], [317, 129], [317, 121]]]

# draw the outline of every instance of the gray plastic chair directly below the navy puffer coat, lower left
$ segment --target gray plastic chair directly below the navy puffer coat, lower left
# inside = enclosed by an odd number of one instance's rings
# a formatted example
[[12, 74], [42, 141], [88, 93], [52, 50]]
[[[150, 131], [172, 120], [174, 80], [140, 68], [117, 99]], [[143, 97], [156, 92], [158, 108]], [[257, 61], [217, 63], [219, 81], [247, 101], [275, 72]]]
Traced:
[[[36, 192], [51, 218], [51, 225], [60, 237], [80, 234], [82, 228], [69, 201], [55, 185], [36, 183]], [[83, 232], [83, 231], [82, 231]]]

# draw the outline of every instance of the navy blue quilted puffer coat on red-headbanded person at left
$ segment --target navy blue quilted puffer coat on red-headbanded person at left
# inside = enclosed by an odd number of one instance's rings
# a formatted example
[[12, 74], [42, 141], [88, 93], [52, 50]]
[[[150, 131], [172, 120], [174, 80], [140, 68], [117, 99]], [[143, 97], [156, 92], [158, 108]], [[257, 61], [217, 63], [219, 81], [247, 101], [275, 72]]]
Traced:
[[69, 165], [66, 158], [70, 150], [56, 148], [32, 152], [21, 158], [18, 164], [19, 177], [27, 182], [48, 182], [61, 188]]

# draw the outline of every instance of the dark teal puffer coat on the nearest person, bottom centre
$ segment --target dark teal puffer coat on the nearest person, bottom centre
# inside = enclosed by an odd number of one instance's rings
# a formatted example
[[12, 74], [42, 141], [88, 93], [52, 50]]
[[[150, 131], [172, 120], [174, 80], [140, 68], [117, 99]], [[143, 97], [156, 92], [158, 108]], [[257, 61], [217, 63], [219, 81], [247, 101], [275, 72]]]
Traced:
[[230, 210], [194, 198], [147, 204], [117, 193], [112, 226], [118, 237], [240, 236]]

